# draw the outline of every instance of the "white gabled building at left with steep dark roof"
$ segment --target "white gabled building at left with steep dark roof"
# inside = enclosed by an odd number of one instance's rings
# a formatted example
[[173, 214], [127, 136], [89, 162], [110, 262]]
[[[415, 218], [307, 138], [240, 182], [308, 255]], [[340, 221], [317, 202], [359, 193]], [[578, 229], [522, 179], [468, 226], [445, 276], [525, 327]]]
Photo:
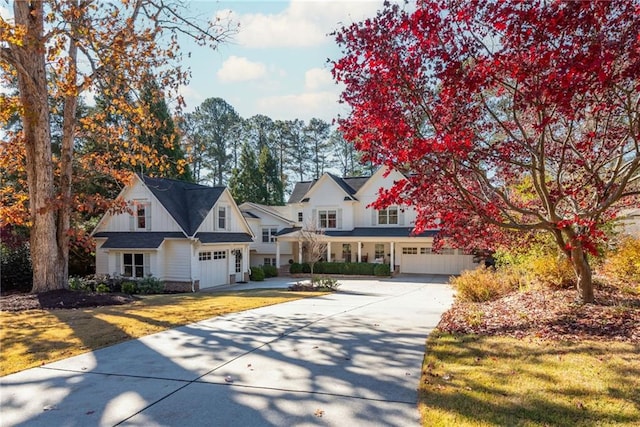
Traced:
[[175, 291], [249, 280], [254, 234], [226, 187], [136, 175], [119, 197], [130, 212], [93, 231], [96, 274], [151, 274]]

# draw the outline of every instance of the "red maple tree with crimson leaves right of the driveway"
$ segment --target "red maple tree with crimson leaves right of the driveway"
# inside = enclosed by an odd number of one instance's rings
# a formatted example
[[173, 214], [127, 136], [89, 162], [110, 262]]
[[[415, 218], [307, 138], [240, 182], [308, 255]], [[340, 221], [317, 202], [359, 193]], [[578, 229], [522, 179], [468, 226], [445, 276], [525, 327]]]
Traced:
[[587, 254], [640, 204], [640, 2], [386, 4], [335, 36], [345, 137], [408, 178], [377, 207], [466, 248], [549, 232], [593, 302]]

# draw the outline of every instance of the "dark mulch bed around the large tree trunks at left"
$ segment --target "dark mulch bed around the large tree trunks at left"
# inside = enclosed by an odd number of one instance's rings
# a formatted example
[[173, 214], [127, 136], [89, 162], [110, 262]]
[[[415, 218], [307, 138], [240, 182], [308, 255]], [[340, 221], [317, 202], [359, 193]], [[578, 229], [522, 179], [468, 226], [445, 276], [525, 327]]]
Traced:
[[40, 294], [15, 293], [1, 296], [0, 311], [102, 307], [129, 304], [133, 301], [136, 301], [136, 298], [126, 294], [78, 292], [63, 289]]

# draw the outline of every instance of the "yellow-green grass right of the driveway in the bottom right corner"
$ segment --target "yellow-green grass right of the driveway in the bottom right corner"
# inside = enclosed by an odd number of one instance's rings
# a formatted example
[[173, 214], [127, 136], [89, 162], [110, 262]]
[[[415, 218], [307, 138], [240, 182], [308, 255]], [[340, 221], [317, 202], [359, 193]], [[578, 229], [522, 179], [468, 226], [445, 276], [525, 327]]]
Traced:
[[640, 345], [434, 333], [424, 426], [638, 426]]

